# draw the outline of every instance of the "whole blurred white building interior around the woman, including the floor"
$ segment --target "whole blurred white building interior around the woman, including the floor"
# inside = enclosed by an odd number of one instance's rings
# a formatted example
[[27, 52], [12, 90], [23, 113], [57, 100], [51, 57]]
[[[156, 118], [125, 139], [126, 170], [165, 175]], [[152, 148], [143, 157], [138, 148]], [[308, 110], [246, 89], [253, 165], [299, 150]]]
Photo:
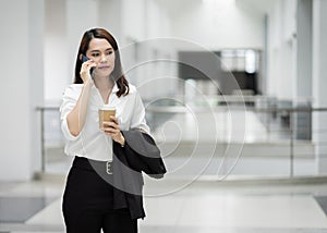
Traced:
[[146, 180], [141, 232], [327, 232], [326, 0], [0, 5], [1, 233], [64, 231], [59, 106], [92, 27], [118, 40], [169, 171]]

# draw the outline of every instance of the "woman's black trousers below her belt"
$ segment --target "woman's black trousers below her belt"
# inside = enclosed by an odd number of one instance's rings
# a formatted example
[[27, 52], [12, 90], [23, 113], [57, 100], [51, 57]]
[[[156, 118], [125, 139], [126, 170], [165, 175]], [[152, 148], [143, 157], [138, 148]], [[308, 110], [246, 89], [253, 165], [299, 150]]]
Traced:
[[[111, 174], [106, 162], [75, 157], [63, 194], [62, 212], [68, 233], [137, 233], [137, 220], [128, 208], [113, 209]], [[100, 175], [99, 175], [100, 172]], [[102, 175], [107, 175], [105, 181]]]

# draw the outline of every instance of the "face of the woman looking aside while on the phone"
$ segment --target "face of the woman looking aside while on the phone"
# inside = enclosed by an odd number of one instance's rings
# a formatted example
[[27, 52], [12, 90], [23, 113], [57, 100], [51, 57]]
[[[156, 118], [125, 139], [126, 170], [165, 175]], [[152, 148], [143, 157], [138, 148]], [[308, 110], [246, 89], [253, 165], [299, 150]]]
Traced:
[[95, 75], [108, 76], [114, 69], [114, 50], [107, 39], [93, 38], [86, 57], [97, 64], [94, 70]]

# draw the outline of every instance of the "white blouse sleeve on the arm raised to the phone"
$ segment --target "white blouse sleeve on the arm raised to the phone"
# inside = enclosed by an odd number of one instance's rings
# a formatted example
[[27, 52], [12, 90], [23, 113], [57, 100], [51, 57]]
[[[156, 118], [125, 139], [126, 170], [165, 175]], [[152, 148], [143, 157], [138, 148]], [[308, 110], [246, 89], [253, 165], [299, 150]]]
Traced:
[[77, 136], [72, 135], [66, 122], [66, 116], [75, 107], [77, 102], [77, 98], [78, 95], [76, 95], [76, 90], [74, 90], [71, 86], [65, 88], [62, 97], [62, 103], [60, 106], [60, 121], [61, 121], [61, 131], [66, 140], [76, 140], [81, 135], [81, 134], [78, 134]]

